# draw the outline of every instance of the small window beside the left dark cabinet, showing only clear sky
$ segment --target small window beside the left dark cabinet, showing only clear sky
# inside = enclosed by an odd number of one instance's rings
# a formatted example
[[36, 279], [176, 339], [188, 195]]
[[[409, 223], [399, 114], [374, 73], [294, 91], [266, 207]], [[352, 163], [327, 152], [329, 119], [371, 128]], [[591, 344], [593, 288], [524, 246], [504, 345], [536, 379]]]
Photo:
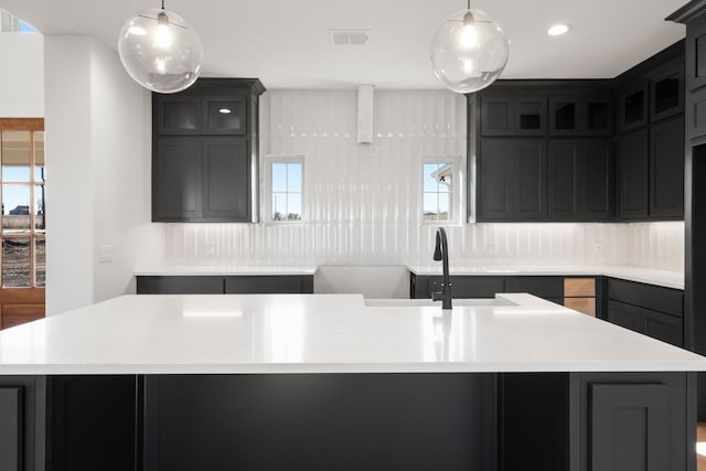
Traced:
[[269, 156], [267, 162], [268, 222], [288, 223], [303, 220], [304, 158]]

